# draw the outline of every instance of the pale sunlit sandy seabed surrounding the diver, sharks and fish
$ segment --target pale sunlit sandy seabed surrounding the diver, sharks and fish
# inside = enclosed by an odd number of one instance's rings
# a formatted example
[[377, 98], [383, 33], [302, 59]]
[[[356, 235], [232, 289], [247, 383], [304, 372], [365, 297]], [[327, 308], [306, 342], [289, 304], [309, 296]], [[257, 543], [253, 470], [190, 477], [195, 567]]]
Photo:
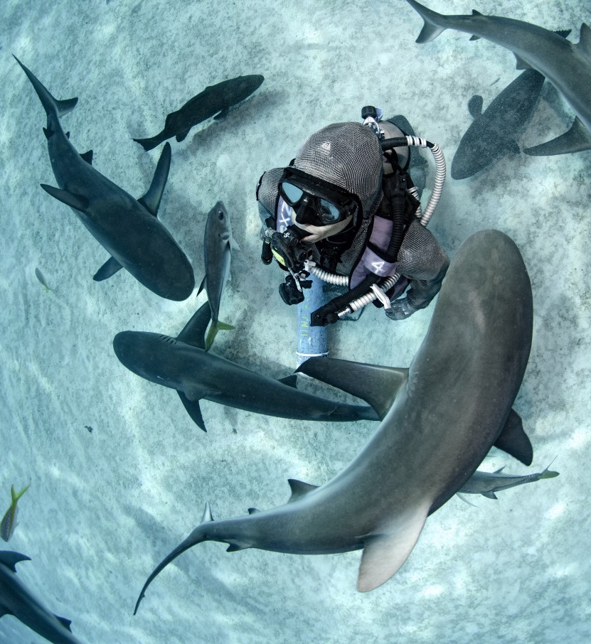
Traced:
[[[444, 14], [475, 8], [571, 28], [573, 42], [580, 23], [591, 21], [587, 0], [427, 5]], [[257, 94], [228, 119], [172, 141], [159, 214], [199, 283], [206, 213], [224, 201], [241, 251], [233, 254], [222, 302], [222, 318], [235, 331], [220, 333], [215, 351], [283, 377], [295, 364], [295, 311], [279, 300], [279, 270], [259, 259], [260, 174], [288, 163], [322, 125], [358, 120], [365, 104], [405, 114], [450, 163], [472, 122], [469, 98], [481, 94], [486, 107], [518, 74], [513, 55], [454, 31], [417, 45], [422, 20], [402, 0], [191, 6], [89, 0], [57, 1], [49, 9], [4, 0], [2, 13], [0, 514], [10, 485], [30, 481], [20, 525], [3, 542], [33, 559], [18, 566], [21, 579], [52, 611], [72, 619], [85, 643], [591, 638], [590, 153], [521, 154], [465, 181], [448, 177], [430, 224], [450, 256], [487, 227], [520, 247], [535, 317], [515, 407], [534, 446], [530, 470], [557, 457], [560, 477], [507, 490], [498, 501], [477, 500], [477, 508], [453, 498], [427, 521], [400, 572], [368, 594], [355, 587], [358, 552], [225, 554], [223, 545], [207, 543], [167, 568], [133, 616], [147, 575], [193, 529], [206, 501], [215, 517], [284, 503], [287, 478], [324, 483], [376, 425], [307, 424], [203, 402], [209, 429], [203, 434], [175, 392], [119, 363], [115, 333], [176, 336], [204, 295], [165, 301], [125, 272], [92, 281], [107, 256], [38, 186], [55, 185], [41, 129], [45, 114], [11, 56], [56, 97], [78, 96], [78, 107], [63, 118], [73, 144], [93, 149], [95, 168], [137, 197], [149, 186], [159, 149], [145, 153], [132, 137], [159, 132], [166, 114], [207, 85], [265, 75]], [[572, 121], [568, 104], [546, 84], [519, 143], [558, 136]], [[41, 286], [36, 267], [54, 290]], [[331, 355], [408, 366], [431, 313], [393, 323], [371, 307], [358, 323], [331, 328]], [[527, 471], [496, 450], [483, 467], [503, 465]], [[0, 642], [41, 641], [14, 618], [0, 619]]]

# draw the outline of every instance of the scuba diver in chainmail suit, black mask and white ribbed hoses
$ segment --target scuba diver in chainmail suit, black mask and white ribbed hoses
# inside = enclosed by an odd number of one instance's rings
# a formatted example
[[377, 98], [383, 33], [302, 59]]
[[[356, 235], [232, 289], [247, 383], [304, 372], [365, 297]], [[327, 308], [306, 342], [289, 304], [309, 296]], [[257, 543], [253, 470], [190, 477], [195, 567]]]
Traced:
[[[404, 117], [380, 121], [380, 112], [364, 107], [363, 124], [314, 132], [289, 166], [265, 172], [257, 186], [261, 259], [275, 257], [284, 270], [283, 301], [302, 302], [311, 274], [348, 287], [312, 313], [311, 326], [339, 321], [370, 301], [392, 320], [407, 318], [435, 297], [449, 266], [425, 227], [445, 178], [443, 154], [414, 136]], [[411, 159], [409, 146], [429, 148], [437, 166], [424, 214], [427, 161]]]

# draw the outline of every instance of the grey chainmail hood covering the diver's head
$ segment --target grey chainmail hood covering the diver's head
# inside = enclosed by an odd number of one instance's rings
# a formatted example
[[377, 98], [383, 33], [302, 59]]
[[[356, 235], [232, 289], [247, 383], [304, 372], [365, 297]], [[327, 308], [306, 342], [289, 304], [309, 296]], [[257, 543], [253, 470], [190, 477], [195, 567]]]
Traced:
[[357, 195], [368, 219], [382, 197], [382, 150], [376, 134], [355, 122], [332, 123], [309, 136], [294, 167]]

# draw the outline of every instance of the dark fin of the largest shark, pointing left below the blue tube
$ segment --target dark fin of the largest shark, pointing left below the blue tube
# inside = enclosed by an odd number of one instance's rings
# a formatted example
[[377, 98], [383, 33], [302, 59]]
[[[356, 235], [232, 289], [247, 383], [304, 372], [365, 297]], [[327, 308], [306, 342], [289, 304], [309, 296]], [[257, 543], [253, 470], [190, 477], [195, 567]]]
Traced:
[[365, 400], [380, 419], [385, 417], [400, 387], [408, 380], [408, 369], [405, 368], [366, 365], [335, 358], [309, 358], [297, 367], [296, 372]]

